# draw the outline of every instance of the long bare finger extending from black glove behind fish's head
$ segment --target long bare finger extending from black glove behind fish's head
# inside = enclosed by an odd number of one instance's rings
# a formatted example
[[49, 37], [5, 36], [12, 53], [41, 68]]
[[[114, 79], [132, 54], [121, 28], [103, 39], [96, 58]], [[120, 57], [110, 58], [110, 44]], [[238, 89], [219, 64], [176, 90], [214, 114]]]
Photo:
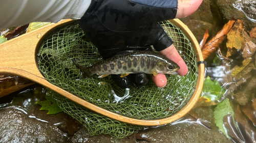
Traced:
[[178, 53], [178, 51], [176, 50], [174, 45], [171, 45], [171, 46], [167, 47], [166, 49], [163, 49], [159, 52], [180, 66], [180, 69], [177, 71], [179, 73], [179, 75], [183, 76], [183, 75], [187, 74], [187, 72], [188, 72], [187, 65], [181, 58], [180, 54]]

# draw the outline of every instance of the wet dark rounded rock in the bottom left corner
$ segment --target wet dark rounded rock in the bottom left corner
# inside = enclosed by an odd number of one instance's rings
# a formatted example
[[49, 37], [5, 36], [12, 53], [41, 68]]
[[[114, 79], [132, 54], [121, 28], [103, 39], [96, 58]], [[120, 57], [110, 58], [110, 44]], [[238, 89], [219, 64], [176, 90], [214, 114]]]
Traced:
[[65, 142], [67, 134], [49, 123], [30, 118], [22, 110], [0, 110], [0, 142]]

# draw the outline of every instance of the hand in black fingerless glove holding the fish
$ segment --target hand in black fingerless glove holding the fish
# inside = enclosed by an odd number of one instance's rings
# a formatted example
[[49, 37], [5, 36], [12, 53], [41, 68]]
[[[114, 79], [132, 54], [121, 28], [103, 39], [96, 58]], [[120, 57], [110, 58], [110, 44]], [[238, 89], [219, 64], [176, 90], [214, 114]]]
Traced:
[[[180, 75], [185, 75], [188, 72], [185, 62], [157, 21], [188, 16], [195, 12], [201, 3], [202, 0], [166, 0], [162, 3], [156, 0], [99, 0], [78, 23], [104, 59], [123, 50], [146, 50], [153, 45], [161, 54], [180, 66]], [[127, 88], [130, 81], [124, 78], [116, 80], [122, 81], [123, 87]], [[160, 88], [167, 82], [163, 74], [152, 78]]]

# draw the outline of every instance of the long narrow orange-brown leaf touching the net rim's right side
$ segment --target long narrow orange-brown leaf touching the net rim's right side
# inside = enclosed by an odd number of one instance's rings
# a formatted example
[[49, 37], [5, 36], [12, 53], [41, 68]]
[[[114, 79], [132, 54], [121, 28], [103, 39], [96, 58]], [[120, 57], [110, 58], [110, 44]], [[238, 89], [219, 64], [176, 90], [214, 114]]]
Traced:
[[222, 28], [221, 31], [217, 33], [215, 37], [213, 37], [211, 40], [209, 40], [203, 47], [202, 54], [203, 59], [205, 60], [208, 58], [208, 56], [214, 52], [219, 45], [222, 43], [222, 41], [225, 39], [227, 33], [231, 30], [235, 20], [229, 20]]

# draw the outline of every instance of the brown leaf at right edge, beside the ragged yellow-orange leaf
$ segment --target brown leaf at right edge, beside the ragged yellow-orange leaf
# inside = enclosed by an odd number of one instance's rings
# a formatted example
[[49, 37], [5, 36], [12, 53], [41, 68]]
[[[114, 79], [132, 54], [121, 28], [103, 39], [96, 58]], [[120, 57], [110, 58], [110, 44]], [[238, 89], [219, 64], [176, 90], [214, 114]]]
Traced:
[[243, 33], [243, 37], [245, 41], [243, 42], [242, 57], [243, 59], [251, 58], [256, 51], [256, 38], [250, 38], [246, 32]]

